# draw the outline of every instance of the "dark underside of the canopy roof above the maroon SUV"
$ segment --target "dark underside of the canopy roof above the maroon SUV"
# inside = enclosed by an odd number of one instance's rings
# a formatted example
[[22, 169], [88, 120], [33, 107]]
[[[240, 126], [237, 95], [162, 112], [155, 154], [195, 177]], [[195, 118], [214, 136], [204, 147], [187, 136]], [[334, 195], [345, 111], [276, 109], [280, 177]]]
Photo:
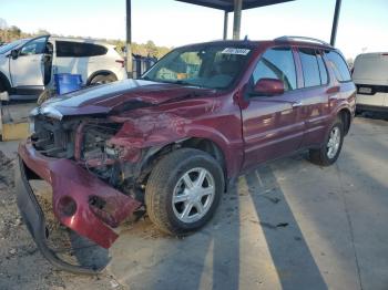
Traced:
[[[227, 12], [234, 11], [234, 0], [176, 0], [176, 1], [219, 9]], [[294, 0], [243, 0], [242, 9], [245, 10], [245, 9], [278, 4], [278, 3], [284, 3], [289, 1], [294, 1]]]

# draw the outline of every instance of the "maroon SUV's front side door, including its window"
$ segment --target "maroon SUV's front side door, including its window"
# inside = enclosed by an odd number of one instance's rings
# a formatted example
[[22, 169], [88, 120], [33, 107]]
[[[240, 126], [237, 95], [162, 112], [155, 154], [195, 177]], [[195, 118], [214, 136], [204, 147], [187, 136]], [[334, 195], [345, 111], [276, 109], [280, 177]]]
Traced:
[[300, 117], [302, 94], [296, 90], [297, 73], [290, 48], [272, 48], [262, 55], [252, 85], [268, 77], [283, 81], [285, 93], [248, 96], [249, 104], [242, 110], [244, 168], [295, 152], [302, 143], [305, 127]]

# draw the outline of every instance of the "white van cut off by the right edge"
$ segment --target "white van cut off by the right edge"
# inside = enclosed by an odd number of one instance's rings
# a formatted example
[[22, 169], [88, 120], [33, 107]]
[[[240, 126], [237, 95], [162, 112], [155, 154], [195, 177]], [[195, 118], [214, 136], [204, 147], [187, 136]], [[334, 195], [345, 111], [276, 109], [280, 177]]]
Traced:
[[358, 112], [388, 112], [388, 52], [357, 55], [353, 81], [357, 85]]

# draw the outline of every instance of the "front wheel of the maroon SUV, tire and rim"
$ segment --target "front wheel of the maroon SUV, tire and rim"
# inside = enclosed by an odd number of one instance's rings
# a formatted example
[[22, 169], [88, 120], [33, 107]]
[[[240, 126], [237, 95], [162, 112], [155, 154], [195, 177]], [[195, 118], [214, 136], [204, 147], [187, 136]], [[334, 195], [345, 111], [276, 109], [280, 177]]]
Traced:
[[145, 187], [146, 210], [162, 231], [180, 236], [212, 218], [223, 191], [223, 170], [211, 155], [177, 149], [153, 168]]

